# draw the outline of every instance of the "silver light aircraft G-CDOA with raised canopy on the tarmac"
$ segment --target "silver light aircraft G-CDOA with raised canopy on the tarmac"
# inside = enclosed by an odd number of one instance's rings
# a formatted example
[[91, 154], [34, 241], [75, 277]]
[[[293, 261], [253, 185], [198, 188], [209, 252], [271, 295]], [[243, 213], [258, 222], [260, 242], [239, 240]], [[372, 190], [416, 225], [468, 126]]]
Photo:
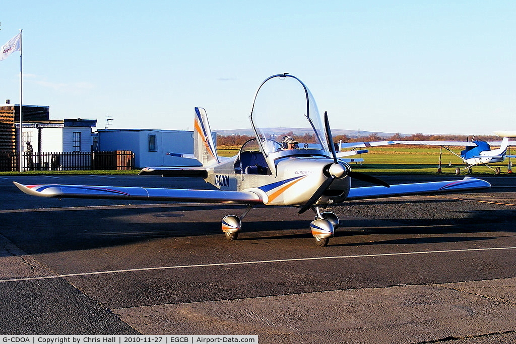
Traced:
[[[147, 167], [140, 174], [200, 177], [217, 190], [178, 188], [93, 186], [93, 185], [22, 185], [25, 193], [43, 197], [110, 198], [159, 201], [196, 201], [246, 204], [241, 216], [227, 215], [222, 231], [228, 240], [240, 233], [241, 220], [257, 204], [299, 207], [299, 213], [311, 209], [315, 220], [310, 228], [318, 246], [326, 246], [339, 225], [338, 217], [322, 207], [358, 200], [391, 196], [427, 195], [481, 190], [491, 185], [483, 180], [463, 180], [389, 185], [384, 181], [352, 171], [339, 160], [325, 112], [319, 115], [315, 100], [298, 78], [289, 74], [273, 75], [262, 82], [254, 96], [250, 114], [256, 137], [244, 143], [233, 158], [217, 155], [206, 112], [195, 108], [194, 155], [199, 167]], [[296, 137], [295, 149], [271, 134], [269, 128], [312, 128], [311, 135]], [[351, 187], [351, 178], [374, 186]]]

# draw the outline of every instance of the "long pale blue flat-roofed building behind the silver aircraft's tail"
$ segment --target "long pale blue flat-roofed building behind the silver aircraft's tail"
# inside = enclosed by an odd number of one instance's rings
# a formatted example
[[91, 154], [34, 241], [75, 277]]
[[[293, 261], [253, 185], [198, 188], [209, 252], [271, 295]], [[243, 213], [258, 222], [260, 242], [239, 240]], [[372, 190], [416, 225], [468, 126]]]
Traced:
[[[214, 142], [216, 132], [212, 132]], [[131, 150], [135, 167], [200, 166], [195, 159], [171, 153], [193, 154], [193, 131], [159, 129], [99, 129], [98, 151]]]

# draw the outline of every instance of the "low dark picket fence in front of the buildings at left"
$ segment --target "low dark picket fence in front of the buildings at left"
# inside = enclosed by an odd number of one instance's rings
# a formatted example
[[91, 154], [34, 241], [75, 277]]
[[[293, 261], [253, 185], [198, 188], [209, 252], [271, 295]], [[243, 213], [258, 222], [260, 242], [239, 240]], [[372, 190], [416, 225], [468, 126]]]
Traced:
[[[23, 153], [22, 170], [92, 170], [116, 169], [130, 170], [134, 168], [134, 153], [130, 150], [107, 152], [42, 152]], [[18, 154], [0, 152], [0, 171], [18, 171]]]

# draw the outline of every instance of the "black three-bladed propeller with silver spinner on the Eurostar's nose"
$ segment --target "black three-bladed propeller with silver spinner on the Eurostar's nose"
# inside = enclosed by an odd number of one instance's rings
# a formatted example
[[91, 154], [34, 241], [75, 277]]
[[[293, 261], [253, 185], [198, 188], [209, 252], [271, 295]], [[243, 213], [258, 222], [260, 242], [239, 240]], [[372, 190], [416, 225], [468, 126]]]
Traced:
[[308, 209], [310, 209], [310, 207], [312, 207], [312, 205], [314, 205], [314, 203], [322, 196], [322, 194], [324, 194], [324, 192], [330, 187], [331, 183], [333, 183], [333, 181], [335, 179], [341, 179], [346, 176], [349, 176], [351, 178], [358, 179], [358, 180], [361, 180], [364, 182], [377, 184], [377, 185], [383, 185], [385, 187], [390, 187], [390, 185], [388, 183], [384, 182], [381, 179], [378, 179], [373, 176], [365, 175], [363, 173], [354, 172], [354, 171], [350, 170], [347, 165], [341, 164], [340, 162], [338, 162], [337, 153], [335, 152], [335, 146], [333, 145], [333, 136], [331, 135], [330, 122], [328, 121], [328, 112], [326, 112], [326, 111], [324, 113], [324, 124], [325, 124], [325, 128], [326, 128], [326, 135], [328, 136], [328, 142], [329, 142], [329, 146], [330, 146], [330, 150], [331, 150], [331, 155], [333, 157], [333, 164], [327, 165], [325, 167], [325, 170], [328, 172], [330, 177], [328, 177], [328, 179], [326, 179], [317, 188], [317, 190], [312, 195], [312, 197], [310, 197], [310, 199], [307, 201], [307, 203], [305, 203], [303, 205], [303, 207], [298, 211], [298, 214], [302, 214], [305, 211], [307, 211]]

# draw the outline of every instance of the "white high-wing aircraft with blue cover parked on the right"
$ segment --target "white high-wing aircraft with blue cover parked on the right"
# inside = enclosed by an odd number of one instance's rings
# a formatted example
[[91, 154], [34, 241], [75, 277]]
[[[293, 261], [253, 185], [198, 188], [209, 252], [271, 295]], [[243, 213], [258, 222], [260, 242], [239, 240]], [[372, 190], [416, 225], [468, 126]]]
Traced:
[[[507, 147], [516, 146], [516, 142], [509, 142], [508, 137], [504, 137], [502, 142], [485, 142], [485, 141], [392, 141], [395, 144], [404, 145], [421, 145], [421, 146], [441, 146], [456, 157], [462, 159], [467, 165], [462, 170], [469, 170], [473, 166], [485, 165], [495, 171], [497, 175], [500, 174], [500, 168], [492, 168], [488, 164], [498, 163], [505, 160], [505, 158], [514, 158], [516, 156], [507, 155]], [[464, 146], [464, 150], [460, 154], [454, 152], [450, 147]], [[491, 146], [500, 147], [498, 149], [491, 149]], [[441, 149], [442, 155], [442, 149]], [[439, 157], [441, 161], [441, 156]], [[456, 174], [460, 175], [461, 169], [456, 168]]]

